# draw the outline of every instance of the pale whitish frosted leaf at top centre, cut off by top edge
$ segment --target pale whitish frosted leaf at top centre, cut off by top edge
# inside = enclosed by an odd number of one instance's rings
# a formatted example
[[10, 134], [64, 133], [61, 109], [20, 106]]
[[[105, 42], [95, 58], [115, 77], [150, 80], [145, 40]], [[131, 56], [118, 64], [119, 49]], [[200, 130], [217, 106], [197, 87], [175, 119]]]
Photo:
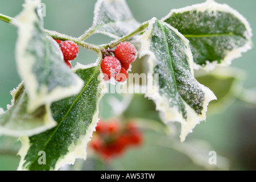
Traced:
[[118, 39], [137, 27], [139, 23], [134, 19], [125, 0], [98, 0], [94, 9], [93, 25], [85, 34], [100, 33]]

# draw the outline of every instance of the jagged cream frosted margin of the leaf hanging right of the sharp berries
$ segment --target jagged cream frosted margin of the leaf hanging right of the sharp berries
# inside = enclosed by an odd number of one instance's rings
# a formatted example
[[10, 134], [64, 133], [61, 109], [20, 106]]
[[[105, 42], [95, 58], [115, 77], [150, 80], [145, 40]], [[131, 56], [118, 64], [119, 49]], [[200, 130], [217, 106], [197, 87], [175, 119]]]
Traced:
[[[154, 59], [155, 59], [155, 55], [153, 52], [150, 51], [150, 42], [148, 41], [148, 39], [150, 38], [151, 35], [151, 30], [153, 28], [153, 24], [155, 23], [157, 19], [156, 18], [152, 18], [148, 24], [148, 29], [144, 32], [144, 34], [142, 35], [142, 48], [141, 48], [141, 52], [139, 53], [139, 57], [143, 57], [148, 55], [148, 69], [150, 71], [153, 70], [154, 68]], [[182, 35], [180, 34], [179, 31], [177, 31], [176, 28], [170, 26], [170, 24], [162, 22], [164, 25], [166, 25], [167, 27], [169, 27], [172, 31], [175, 32], [176, 35], [178, 35], [181, 40], [183, 40], [185, 46], [187, 47], [187, 55], [188, 55], [188, 61], [189, 61], [189, 68], [191, 69], [191, 73], [192, 76], [193, 74], [193, 56], [192, 56], [192, 52], [191, 49], [189, 48], [189, 41]], [[161, 97], [157, 90], [158, 88], [155, 88], [155, 86], [152, 86], [151, 88], [148, 88], [149, 90], [147, 90], [147, 93], [145, 94], [146, 97], [149, 97], [151, 99], [153, 99], [155, 101], [156, 104], [156, 110], [160, 111], [160, 116], [163, 119], [163, 121], [165, 123], [168, 122], [180, 122], [181, 123], [181, 134], [180, 134], [180, 140], [181, 142], [183, 142], [185, 140], [185, 137], [188, 135], [188, 133], [192, 132], [192, 129], [199, 124], [201, 121], [205, 121], [206, 118], [206, 112], [207, 112], [207, 106], [209, 104], [210, 101], [212, 100], [216, 100], [216, 96], [214, 95], [214, 93], [212, 92], [212, 90], [210, 90], [209, 88], [207, 88], [206, 86], [202, 85], [199, 83], [200, 88], [203, 90], [203, 92], [205, 93], [205, 100], [203, 102], [203, 110], [201, 111], [202, 114], [196, 114], [196, 112], [187, 105], [186, 102], [183, 102], [185, 105], [185, 109], [187, 110], [187, 118], [190, 118], [190, 120], [185, 120], [182, 115], [177, 111], [176, 108], [169, 108], [167, 106], [166, 100]]]

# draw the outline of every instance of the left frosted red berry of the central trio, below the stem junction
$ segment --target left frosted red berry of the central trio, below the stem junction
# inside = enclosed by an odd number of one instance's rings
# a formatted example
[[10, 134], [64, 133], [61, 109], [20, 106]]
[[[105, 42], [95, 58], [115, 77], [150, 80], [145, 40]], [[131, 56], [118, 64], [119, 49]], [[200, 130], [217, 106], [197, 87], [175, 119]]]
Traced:
[[107, 56], [101, 62], [101, 70], [109, 77], [117, 76], [121, 71], [121, 63], [116, 57]]

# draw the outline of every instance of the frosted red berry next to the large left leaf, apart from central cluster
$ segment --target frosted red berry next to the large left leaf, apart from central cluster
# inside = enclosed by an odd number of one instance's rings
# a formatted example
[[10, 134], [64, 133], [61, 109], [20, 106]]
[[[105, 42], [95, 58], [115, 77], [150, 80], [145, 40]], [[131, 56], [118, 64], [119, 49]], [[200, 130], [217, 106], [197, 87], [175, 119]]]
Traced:
[[79, 47], [71, 40], [66, 40], [60, 44], [60, 49], [63, 53], [64, 60], [73, 60], [79, 53]]

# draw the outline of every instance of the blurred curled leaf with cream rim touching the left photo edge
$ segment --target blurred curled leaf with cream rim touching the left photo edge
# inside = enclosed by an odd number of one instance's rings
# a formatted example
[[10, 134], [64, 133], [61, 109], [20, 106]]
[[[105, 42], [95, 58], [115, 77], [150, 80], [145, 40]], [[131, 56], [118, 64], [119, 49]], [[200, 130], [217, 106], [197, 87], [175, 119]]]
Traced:
[[40, 106], [32, 113], [27, 113], [28, 96], [23, 84], [14, 89], [12, 105], [0, 114], [0, 135], [20, 137], [35, 135], [56, 126], [49, 105]]

